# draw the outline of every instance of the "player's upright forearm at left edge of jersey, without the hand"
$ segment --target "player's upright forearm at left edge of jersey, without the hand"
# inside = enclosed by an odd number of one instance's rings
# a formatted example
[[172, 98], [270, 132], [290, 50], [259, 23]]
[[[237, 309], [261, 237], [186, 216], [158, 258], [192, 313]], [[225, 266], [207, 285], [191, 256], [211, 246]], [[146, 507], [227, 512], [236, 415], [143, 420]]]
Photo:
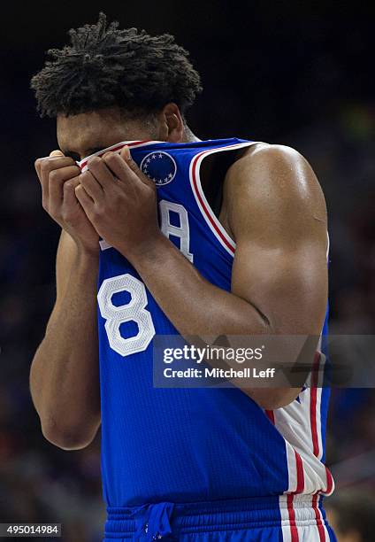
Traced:
[[34, 356], [30, 387], [47, 432], [100, 420], [96, 280], [97, 258], [78, 253]]

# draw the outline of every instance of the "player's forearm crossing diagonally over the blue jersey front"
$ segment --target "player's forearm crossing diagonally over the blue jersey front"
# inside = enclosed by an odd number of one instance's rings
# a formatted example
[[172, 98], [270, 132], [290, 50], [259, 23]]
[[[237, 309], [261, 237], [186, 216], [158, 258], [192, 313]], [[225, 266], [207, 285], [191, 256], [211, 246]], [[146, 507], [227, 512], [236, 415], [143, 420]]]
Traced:
[[248, 301], [209, 283], [165, 236], [132, 263], [181, 335], [258, 335], [270, 329]]

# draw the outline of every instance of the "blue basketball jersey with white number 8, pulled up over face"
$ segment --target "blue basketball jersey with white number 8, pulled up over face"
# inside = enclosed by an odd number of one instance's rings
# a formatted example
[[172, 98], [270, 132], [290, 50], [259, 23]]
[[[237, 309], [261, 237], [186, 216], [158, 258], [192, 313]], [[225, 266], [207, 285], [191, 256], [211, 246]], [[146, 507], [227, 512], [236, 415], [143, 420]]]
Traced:
[[[203, 193], [200, 168], [212, 153], [254, 142], [126, 144], [157, 184], [165, 236], [210, 283], [230, 290], [235, 244]], [[103, 492], [109, 507], [293, 499], [295, 493], [313, 501], [333, 491], [324, 465], [328, 391], [307, 388], [290, 405], [265, 412], [235, 388], [155, 388], [152, 339], [177, 330], [134, 267], [104, 241], [98, 325]]]

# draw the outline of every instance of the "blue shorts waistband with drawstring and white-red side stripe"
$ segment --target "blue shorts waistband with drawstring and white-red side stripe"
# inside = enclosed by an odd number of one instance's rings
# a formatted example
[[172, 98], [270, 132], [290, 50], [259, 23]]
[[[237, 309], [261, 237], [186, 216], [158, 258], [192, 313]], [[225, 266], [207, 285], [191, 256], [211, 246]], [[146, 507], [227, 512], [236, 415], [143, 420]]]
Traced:
[[[282, 495], [188, 503], [157, 502], [108, 507], [105, 538], [157, 540], [170, 535], [325, 522], [322, 496]], [[317, 520], [317, 517], [319, 518]]]

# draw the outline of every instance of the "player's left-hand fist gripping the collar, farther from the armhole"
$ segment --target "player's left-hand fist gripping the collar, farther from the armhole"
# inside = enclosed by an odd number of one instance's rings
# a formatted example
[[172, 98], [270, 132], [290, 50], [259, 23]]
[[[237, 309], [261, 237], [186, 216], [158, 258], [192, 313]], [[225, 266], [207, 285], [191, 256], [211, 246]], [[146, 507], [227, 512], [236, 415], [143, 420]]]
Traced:
[[37, 159], [35, 169], [42, 185], [42, 205], [54, 221], [89, 252], [98, 252], [99, 236], [75, 195], [80, 184], [80, 168], [61, 151]]

